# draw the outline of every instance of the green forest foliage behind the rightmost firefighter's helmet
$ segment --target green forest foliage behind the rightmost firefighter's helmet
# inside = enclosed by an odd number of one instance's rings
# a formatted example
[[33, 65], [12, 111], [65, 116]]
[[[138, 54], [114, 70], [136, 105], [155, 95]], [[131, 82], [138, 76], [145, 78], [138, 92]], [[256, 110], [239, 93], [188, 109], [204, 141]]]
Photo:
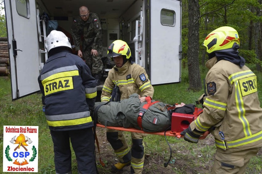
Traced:
[[[188, 0], [182, 3], [188, 4]], [[260, 24], [262, 22], [261, 14], [260, 16], [257, 14], [258, 9], [262, 9], [262, 4], [260, 3], [258, 0], [199, 0], [199, 48], [203, 48], [202, 43], [207, 34], [212, 30], [220, 26], [231, 26], [239, 33], [241, 42], [241, 48], [239, 49], [240, 55], [243, 56], [248, 63], [261, 63], [256, 59], [257, 57], [254, 51], [248, 50], [250, 39], [252, 39], [252, 49], [255, 50], [255, 43], [253, 42], [254, 36], [249, 36], [249, 30], [251, 21], [253, 23], [260, 22]], [[182, 58], [185, 59], [187, 59], [188, 51], [187, 24], [189, 18], [186, 8], [188, 7], [182, 5]], [[199, 50], [199, 59], [201, 60], [201, 58], [202, 51]]]

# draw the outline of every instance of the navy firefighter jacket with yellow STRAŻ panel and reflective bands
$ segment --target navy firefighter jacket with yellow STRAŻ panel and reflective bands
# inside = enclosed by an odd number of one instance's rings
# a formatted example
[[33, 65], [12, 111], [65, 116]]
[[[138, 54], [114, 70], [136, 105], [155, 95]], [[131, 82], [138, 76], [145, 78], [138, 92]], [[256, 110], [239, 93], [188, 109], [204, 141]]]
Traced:
[[85, 62], [62, 51], [50, 56], [38, 83], [49, 128], [54, 131], [93, 126], [90, 108], [97, 95], [96, 81]]

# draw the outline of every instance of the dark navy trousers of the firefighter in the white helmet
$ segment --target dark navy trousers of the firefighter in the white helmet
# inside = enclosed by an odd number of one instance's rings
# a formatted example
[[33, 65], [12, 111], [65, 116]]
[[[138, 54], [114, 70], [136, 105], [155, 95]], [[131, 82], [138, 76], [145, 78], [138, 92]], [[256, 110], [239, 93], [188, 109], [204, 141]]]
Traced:
[[70, 141], [76, 155], [78, 173], [96, 173], [95, 144], [92, 127], [69, 131], [50, 130], [50, 133], [54, 143], [56, 174], [69, 174], [72, 172]]

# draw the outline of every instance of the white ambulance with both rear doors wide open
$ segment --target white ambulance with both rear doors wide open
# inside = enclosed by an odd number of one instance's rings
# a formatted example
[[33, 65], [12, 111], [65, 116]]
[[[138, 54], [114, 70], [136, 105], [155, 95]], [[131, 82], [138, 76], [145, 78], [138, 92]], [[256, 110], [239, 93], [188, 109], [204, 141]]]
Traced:
[[181, 0], [4, 0], [4, 5], [12, 100], [39, 91], [37, 78], [48, 58], [47, 28], [55, 22], [70, 38], [80, 6], [100, 17], [103, 56], [121, 39], [152, 85], [181, 81]]

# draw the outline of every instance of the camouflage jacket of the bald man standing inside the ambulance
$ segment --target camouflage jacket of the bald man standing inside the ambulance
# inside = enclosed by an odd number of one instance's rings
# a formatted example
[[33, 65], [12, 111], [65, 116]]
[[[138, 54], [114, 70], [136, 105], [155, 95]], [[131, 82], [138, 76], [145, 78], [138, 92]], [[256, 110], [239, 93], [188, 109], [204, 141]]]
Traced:
[[102, 46], [102, 28], [101, 22], [97, 14], [89, 13], [87, 21], [77, 17], [73, 21], [72, 36], [76, 50], [80, 50], [81, 36], [83, 36], [82, 50], [91, 47], [91, 49], [98, 50]]

